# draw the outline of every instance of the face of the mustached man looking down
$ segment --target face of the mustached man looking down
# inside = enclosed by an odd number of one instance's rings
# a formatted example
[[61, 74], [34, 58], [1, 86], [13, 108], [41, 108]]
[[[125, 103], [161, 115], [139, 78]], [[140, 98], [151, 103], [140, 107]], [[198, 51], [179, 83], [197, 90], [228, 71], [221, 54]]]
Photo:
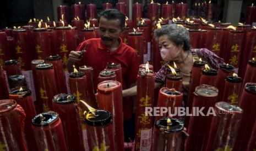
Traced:
[[107, 20], [103, 16], [100, 18], [99, 33], [104, 45], [110, 46], [116, 42], [122, 32], [120, 23], [119, 19]]

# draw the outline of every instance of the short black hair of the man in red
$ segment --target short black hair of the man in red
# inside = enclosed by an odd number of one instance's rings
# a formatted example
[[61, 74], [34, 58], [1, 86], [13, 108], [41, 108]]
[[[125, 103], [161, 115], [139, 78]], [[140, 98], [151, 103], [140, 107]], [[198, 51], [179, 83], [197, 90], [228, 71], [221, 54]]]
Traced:
[[107, 9], [104, 11], [101, 11], [101, 13], [99, 14], [99, 18], [98, 18], [98, 22], [100, 23], [100, 18], [104, 17], [108, 20], [120, 20], [120, 27], [123, 28], [126, 24], [126, 17], [117, 9]]

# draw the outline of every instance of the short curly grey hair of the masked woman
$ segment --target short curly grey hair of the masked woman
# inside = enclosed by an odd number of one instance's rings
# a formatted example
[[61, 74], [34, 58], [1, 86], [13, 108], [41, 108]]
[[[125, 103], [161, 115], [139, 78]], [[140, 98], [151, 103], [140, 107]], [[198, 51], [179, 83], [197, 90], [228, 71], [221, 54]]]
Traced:
[[184, 50], [190, 49], [189, 32], [182, 26], [177, 26], [176, 24], [164, 25], [155, 30], [154, 34], [157, 41], [159, 37], [166, 35], [175, 45], [184, 44]]

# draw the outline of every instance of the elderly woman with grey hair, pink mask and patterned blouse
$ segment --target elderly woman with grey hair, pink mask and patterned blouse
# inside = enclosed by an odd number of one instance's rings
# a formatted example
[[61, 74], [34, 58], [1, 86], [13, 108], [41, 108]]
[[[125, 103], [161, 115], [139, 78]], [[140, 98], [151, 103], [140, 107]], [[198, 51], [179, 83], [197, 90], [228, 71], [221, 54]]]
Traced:
[[[212, 68], [218, 68], [224, 62], [223, 59], [208, 49], [190, 49], [188, 30], [176, 24], [165, 25], [155, 30], [155, 37], [159, 43], [162, 59], [168, 61], [155, 73], [155, 88], [165, 83], [168, 65], [173, 65], [172, 61], [175, 61], [183, 74], [184, 101], [187, 100], [190, 71], [194, 61], [198, 61], [201, 58], [208, 62], [208, 65]], [[136, 86], [123, 90], [123, 96], [136, 95], [136, 90]]]

